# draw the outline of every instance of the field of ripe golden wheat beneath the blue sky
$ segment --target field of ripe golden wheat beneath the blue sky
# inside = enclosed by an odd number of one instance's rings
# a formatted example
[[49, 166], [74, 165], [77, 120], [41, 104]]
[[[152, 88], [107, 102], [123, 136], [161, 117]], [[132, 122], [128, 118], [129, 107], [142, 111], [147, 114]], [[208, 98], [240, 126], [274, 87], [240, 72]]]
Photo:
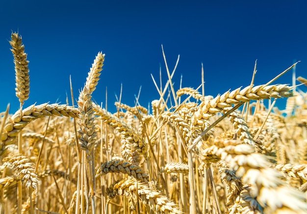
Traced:
[[153, 80], [150, 109], [119, 100], [111, 113], [92, 99], [98, 53], [77, 103], [24, 107], [25, 47], [18, 33], [10, 44], [20, 110], [0, 113], [1, 214], [307, 213], [307, 94], [296, 87], [253, 77], [205, 96], [204, 85], [175, 91], [175, 68], [166, 85]]

